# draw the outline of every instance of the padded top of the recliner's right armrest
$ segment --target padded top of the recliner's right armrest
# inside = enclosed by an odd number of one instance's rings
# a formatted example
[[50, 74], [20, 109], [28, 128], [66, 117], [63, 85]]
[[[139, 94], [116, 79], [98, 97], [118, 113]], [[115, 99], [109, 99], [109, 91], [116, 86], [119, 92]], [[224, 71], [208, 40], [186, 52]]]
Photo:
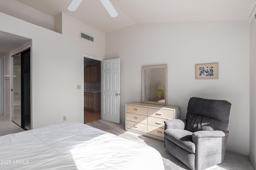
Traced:
[[196, 131], [192, 133], [192, 138], [224, 137], [228, 133], [228, 131]]

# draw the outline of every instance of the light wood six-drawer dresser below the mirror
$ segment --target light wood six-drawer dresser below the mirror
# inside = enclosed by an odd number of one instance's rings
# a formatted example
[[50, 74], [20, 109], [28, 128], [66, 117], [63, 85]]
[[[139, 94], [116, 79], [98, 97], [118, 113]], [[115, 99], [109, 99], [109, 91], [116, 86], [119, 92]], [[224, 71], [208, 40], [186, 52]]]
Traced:
[[164, 121], [179, 119], [180, 107], [130, 102], [126, 104], [126, 131], [164, 141]]

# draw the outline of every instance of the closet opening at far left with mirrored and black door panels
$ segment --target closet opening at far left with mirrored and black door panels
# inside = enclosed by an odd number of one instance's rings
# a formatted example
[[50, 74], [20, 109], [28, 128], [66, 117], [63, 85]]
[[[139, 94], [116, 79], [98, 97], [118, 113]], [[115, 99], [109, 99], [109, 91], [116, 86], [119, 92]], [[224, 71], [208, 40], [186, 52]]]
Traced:
[[12, 121], [30, 130], [30, 48], [12, 56]]

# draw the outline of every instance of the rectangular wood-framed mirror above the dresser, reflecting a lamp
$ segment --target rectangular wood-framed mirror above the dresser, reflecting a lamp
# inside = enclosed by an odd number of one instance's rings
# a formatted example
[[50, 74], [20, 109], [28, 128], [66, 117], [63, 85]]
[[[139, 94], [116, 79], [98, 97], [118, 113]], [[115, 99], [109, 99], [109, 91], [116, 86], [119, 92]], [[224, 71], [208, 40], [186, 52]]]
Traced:
[[142, 103], [167, 105], [167, 65], [142, 67]]

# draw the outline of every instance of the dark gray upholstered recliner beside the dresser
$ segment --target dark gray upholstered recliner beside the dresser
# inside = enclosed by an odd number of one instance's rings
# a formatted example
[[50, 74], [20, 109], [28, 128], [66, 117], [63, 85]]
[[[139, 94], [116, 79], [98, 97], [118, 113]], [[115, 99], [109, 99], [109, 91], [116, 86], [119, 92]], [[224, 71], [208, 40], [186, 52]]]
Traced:
[[192, 97], [186, 119], [164, 121], [164, 147], [192, 170], [223, 162], [231, 104]]

